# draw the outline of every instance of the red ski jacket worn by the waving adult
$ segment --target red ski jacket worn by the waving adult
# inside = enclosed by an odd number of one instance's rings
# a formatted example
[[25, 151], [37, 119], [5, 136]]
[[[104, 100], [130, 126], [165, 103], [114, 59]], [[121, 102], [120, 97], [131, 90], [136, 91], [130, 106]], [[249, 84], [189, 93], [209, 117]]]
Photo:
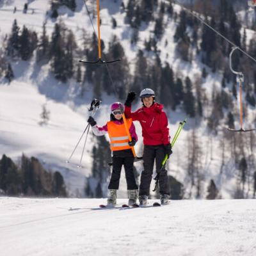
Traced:
[[125, 106], [124, 112], [127, 118], [140, 122], [144, 145], [170, 143], [168, 119], [163, 111], [163, 105], [155, 102], [150, 108], [143, 106], [135, 112], [131, 112], [131, 107]]

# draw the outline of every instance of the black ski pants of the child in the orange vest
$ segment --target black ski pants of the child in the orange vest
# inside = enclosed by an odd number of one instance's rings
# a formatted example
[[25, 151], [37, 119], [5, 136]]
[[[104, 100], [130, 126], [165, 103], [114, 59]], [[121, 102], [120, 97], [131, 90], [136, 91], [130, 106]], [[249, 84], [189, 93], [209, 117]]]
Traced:
[[[119, 188], [120, 175], [121, 175], [121, 170], [123, 165], [125, 170], [125, 179], [127, 182], [127, 189], [129, 190], [138, 189], [138, 186], [136, 184], [136, 180], [134, 177], [134, 172], [133, 172], [134, 157], [132, 155], [132, 152], [131, 153], [127, 152], [127, 150], [122, 150], [122, 151], [123, 152], [114, 152], [114, 155], [112, 157], [113, 169], [112, 169], [111, 179], [109, 182], [108, 189]], [[129, 155], [125, 156], [127, 155], [127, 153]]]

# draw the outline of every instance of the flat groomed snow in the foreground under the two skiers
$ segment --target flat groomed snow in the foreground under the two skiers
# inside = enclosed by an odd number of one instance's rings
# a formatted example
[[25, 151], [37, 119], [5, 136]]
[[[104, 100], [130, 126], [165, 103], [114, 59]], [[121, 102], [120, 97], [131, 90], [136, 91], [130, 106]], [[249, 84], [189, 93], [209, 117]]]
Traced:
[[[118, 205], [126, 201], [119, 199]], [[255, 200], [182, 200], [164, 207], [100, 209], [105, 202], [0, 198], [1, 255], [256, 253]]]

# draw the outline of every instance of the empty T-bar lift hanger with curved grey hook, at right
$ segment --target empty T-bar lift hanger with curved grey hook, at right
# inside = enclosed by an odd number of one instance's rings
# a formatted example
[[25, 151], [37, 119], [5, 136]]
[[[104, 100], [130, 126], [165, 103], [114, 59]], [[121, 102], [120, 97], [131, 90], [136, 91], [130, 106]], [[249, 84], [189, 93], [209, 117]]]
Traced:
[[243, 129], [243, 97], [242, 97], [242, 84], [244, 83], [244, 74], [242, 72], [237, 72], [232, 68], [232, 54], [234, 51], [236, 51], [238, 47], [232, 47], [232, 51], [229, 54], [229, 67], [232, 73], [236, 74], [236, 81], [239, 84], [239, 101], [240, 101], [240, 129], [235, 130], [228, 128], [228, 131], [233, 131], [233, 132], [250, 132], [250, 131], [255, 131], [255, 129], [249, 129], [249, 130], [244, 130]]

